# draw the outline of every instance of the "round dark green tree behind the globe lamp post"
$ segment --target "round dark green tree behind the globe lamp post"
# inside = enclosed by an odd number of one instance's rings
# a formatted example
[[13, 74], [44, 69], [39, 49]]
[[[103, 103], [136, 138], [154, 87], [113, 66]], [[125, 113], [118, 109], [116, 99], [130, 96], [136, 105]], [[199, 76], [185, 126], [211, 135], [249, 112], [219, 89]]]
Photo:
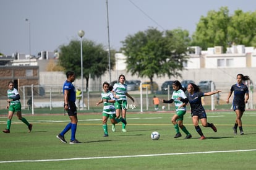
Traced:
[[[88, 90], [88, 80], [100, 77], [108, 70], [108, 51], [101, 44], [96, 44], [90, 40], [82, 40], [83, 48], [83, 77], [86, 79], [86, 90]], [[59, 65], [64, 70], [72, 70], [77, 77], [81, 75], [81, 52], [80, 41], [72, 40], [69, 45], [60, 46]], [[112, 51], [113, 52], [113, 51]], [[114, 66], [114, 53], [111, 55], [111, 69]]]

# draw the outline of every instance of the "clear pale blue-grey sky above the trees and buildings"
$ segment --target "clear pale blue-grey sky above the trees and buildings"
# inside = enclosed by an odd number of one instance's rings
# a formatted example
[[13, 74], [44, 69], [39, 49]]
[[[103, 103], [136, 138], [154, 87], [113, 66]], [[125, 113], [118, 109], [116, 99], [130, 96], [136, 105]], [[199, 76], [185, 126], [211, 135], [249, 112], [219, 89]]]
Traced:
[[[256, 1], [233, 0], [108, 0], [110, 46], [118, 50], [127, 35], [149, 27], [158, 30], [181, 28], [194, 33], [201, 16], [228, 6], [254, 12]], [[108, 48], [106, 0], [0, 0], [0, 53], [31, 54], [54, 51], [85, 31], [88, 40]]]

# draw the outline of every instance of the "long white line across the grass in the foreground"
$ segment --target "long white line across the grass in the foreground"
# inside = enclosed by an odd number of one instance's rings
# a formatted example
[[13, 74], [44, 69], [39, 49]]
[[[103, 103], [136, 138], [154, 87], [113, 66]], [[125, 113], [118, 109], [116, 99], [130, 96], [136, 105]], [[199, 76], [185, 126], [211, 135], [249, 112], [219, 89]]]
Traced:
[[112, 158], [138, 158], [138, 157], [150, 157], [150, 156], [192, 155], [192, 154], [207, 154], [207, 153], [231, 153], [231, 152], [244, 152], [244, 151], [256, 151], [256, 149], [253, 149], [253, 150], [226, 150], [226, 151], [200, 151], [200, 152], [187, 152], [187, 153], [162, 153], [162, 154], [150, 154], [150, 155], [99, 156], [99, 157], [87, 157], [87, 158], [16, 160], [16, 161], [0, 161], [0, 163], [73, 161], [73, 160], [110, 159], [110, 158], [111, 158], [111, 159], [112, 159]]

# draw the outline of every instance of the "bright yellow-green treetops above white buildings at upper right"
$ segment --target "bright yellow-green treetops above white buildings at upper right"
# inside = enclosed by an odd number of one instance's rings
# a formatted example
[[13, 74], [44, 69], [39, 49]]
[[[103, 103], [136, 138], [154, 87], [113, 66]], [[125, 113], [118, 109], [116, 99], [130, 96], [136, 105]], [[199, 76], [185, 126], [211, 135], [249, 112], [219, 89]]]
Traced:
[[233, 44], [256, 46], [256, 12], [234, 11], [229, 16], [228, 7], [220, 11], [209, 11], [201, 17], [192, 35], [191, 45], [207, 49], [212, 46], [223, 46], [224, 51]]

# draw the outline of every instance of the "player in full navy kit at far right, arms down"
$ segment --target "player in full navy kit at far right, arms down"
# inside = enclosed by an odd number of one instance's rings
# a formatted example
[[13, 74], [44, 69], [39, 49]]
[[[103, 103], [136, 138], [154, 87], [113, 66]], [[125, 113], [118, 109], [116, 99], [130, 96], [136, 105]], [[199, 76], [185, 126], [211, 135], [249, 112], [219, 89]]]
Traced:
[[231, 86], [226, 102], [229, 103], [229, 98], [231, 97], [234, 91], [233, 109], [236, 112], [236, 121], [233, 130], [234, 134], [237, 134], [238, 126], [240, 134], [244, 135], [244, 130], [242, 130], [242, 115], [244, 114], [245, 111], [245, 103], [247, 103], [249, 99], [249, 90], [247, 86], [244, 85], [244, 83], [242, 83], [242, 81], [250, 80], [250, 77], [247, 75], [237, 74], [236, 80], [237, 83]]

